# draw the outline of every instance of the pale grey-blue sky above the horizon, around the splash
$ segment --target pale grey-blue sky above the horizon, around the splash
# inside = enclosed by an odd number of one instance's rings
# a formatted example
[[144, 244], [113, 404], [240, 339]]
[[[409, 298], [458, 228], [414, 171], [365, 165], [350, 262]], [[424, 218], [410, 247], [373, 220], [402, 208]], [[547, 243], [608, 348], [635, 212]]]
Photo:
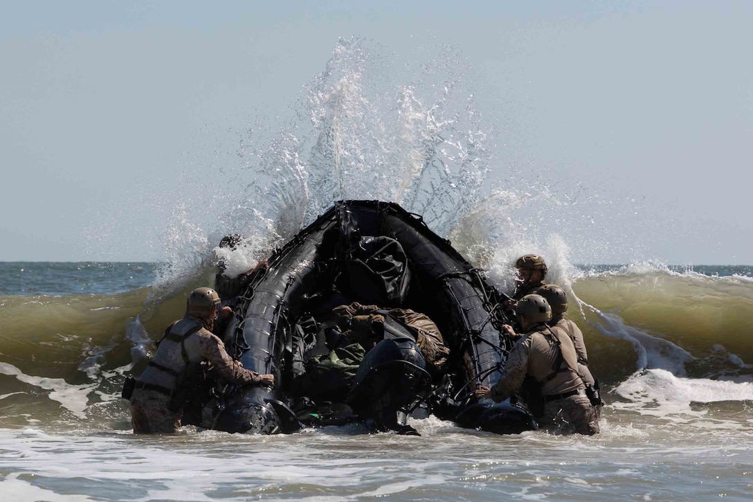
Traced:
[[753, 2], [605, 3], [6, 2], [0, 261], [164, 259], [174, 185], [222, 176], [355, 36], [462, 54], [498, 176], [621, 201], [594, 231], [641, 256], [575, 261], [753, 264]]

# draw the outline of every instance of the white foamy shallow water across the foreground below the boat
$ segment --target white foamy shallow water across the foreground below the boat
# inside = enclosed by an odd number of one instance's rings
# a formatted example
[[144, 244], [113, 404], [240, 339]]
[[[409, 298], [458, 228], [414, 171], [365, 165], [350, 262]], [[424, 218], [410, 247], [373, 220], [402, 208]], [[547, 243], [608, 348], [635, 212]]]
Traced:
[[[177, 436], [84, 436], [0, 429], [0, 449], [20, 453], [0, 457], [0, 470], [28, 482], [21, 488], [32, 498], [35, 488], [43, 487], [50, 495], [81, 494], [81, 500], [489, 500], [553, 494], [603, 500], [605, 477], [617, 476], [608, 485], [610, 493], [629, 497], [641, 493], [647, 481], [676, 479], [677, 473], [660, 470], [666, 462], [684, 465], [679, 476], [692, 483], [709, 469], [727, 466], [730, 455], [750, 458], [739, 431], [734, 431], [739, 444], [720, 445], [720, 434], [729, 430], [705, 428], [694, 445], [687, 445], [655, 429], [611, 427], [608, 421], [596, 437], [541, 431], [498, 436], [435, 419], [428, 423], [420, 427], [416, 421], [424, 435], [409, 437], [349, 427], [289, 436], [195, 430]], [[703, 466], [693, 464], [701, 457]], [[733, 477], [708, 484], [740, 489]], [[41, 500], [54, 500], [45, 495]]]

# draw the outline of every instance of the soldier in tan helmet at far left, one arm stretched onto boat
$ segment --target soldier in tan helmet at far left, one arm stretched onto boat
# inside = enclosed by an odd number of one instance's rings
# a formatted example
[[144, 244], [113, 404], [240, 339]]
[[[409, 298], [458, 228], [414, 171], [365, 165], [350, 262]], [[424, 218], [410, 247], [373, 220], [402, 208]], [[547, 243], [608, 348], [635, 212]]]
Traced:
[[187, 391], [193, 378], [203, 372], [202, 363], [209, 363], [221, 378], [236, 385], [274, 384], [274, 375], [260, 375], [234, 361], [212, 333], [218, 305], [220, 298], [213, 289], [194, 289], [183, 319], [166, 329], [157, 353], [133, 385], [130, 409], [134, 433], [177, 432]]

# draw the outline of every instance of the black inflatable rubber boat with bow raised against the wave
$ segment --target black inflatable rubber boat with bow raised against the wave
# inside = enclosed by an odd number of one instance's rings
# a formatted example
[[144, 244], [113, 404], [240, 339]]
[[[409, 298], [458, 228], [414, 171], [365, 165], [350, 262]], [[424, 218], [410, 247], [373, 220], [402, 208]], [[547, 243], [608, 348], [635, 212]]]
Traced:
[[[500, 335], [505, 320], [500, 296], [420, 216], [398, 204], [340, 201], [268, 263], [236, 302], [224, 341], [245, 368], [273, 373], [275, 387], [215, 385], [195, 420], [199, 425], [231, 433], [288, 433], [317, 419], [323, 424], [352, 419], [405, 431], [412, 430], [406, 415], [423, 410], [495, 433], [535, 429], [522, 402], [495, 404], [473, 396], [477, 384], [498, 381], [511, 348]], [[389, 315], [383, 339], [364, 357], [349, 359], [349, 347], [327, 354], [331, 344], [325, 341], [336, 324], [332, 309], [351, 302], [431, 318], [450, 350], [443, 372], [430, 375], [415, 333]], [[324, 393], [331, 384], [328, 372], [308, 387], [297, 385], [311, 376], [306, 368], [312, 372], [316, 353], [335, 369], [353, 369], [355, 377], [342, 388], [335, 385], [331, 396]], [[319, 394], [316, 403], [307, 393]]]

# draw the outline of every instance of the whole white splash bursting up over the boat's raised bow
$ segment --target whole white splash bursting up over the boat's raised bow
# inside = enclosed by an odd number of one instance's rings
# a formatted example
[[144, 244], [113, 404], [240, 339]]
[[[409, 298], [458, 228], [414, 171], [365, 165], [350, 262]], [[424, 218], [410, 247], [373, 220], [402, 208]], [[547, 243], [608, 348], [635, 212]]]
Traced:
[[[248, 129], [242, 166], [224, 172], [227, 189], [176, 207], [159, 283], [185, 288], [209, 277], [219, 260], [229, 275], [238, 274], [334, 201], [377, 199], [421, 214], [502, 289], [512, 289], [517, 256], [540, 253], [550, 280], [572, 290], [572, 236], [593, 218], [569, 209], [584, 206], [587, 189], [550, 185], [547, 171], [527, 162], [498, 166], [492, 152], [499, 133], [479, 109], [472, 69], [453, 47], [432, 51], [424, 64], [401, 65], [379, 44], [341, 39], [325, 70], [304, 87], [292, 118]], [[494, 179], [492, 167], [504, 175]], [[191, 176], [183, 183], [194, 186]], [[216, 216], [206, 217], [207, 208]], [[230, 233], [248, 244], [219, 249]]]

